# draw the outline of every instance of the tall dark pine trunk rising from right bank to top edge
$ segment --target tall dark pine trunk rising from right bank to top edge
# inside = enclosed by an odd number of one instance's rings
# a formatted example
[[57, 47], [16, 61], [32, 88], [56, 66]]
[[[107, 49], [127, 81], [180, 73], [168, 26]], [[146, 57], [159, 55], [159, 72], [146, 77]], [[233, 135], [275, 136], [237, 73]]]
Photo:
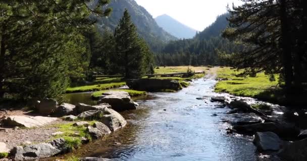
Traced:
[[289, 94], [292, 88], [293, 70], [292, 70], [292, 55], [291, 55], [291, 39], [289, 35], [289, 24], [287, 18], [287, 9], [285, 0], [280, 0], [280, 23], [281, 23], [281, 45], [282, 59], [285, 74], [286, 93]]

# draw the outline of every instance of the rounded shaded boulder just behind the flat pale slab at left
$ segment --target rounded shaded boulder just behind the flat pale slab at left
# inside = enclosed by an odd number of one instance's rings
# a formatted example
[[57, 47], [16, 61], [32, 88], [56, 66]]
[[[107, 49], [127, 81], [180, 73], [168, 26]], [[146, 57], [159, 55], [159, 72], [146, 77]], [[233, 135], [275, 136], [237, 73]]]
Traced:
[[53, 99], [44, 98], [37, 106], [37, 111], [43, 115], [49, 115], [58, 107], [58, 102]]

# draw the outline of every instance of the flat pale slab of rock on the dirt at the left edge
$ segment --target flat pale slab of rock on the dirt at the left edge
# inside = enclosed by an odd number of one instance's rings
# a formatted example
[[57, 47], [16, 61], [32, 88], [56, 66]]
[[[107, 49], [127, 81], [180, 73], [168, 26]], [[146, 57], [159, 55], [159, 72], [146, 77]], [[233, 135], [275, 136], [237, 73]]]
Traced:
[[26, 117], [26, 116], [9, 116], [2, 120], [2, 123], [5, 126], [9, 127], [39, 127], [56, 121], [57, 118], [53, 117], [42, 117], [42, 116], [35, 116], [35, 117]]

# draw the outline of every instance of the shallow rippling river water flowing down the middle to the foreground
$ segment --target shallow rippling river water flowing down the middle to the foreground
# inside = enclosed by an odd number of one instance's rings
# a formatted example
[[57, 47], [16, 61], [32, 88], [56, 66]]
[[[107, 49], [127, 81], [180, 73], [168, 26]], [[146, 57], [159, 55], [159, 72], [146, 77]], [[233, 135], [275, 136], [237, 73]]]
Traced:
[[[128, 125], [68, 156], [115, 160], [257, 160], [246, 137], [228, 136], [227, 109], [210, 102], [216, 81], [197, 79], [177, 93], [149, 93], [137, 110], [121, 113]], [[204, 100], [196, 100], [205, 97]], [[213, 115], [217, 114], [217, 116]], [[63, 157], [63, 156], [62, 156]]]

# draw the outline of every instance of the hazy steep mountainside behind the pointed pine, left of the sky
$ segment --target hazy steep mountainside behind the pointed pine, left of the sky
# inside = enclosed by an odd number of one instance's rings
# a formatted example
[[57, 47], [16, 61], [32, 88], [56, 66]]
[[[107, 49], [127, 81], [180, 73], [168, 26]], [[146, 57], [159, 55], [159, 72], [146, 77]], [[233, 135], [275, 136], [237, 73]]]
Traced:
[[123, 16], [124, 10], [127, 9], [138, 29], [138, 33], [146, 40], [152, 50], [158, 51], [165, 43], [177, 40], [175, 36], [159, 27], [155, 19], [134, 0], [113, 0], [106, 7], [112, 8], [113, 12], [110, 17], [102, 18], [98, 21], [97, 25], [100, 29], [114, 31]]

